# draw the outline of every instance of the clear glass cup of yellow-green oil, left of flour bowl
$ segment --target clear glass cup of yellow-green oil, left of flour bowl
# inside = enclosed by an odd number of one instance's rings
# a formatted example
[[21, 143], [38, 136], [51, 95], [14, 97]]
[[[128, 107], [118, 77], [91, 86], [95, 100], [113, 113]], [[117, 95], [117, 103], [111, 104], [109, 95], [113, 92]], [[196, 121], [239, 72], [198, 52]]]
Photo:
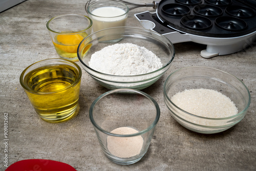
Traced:
[[41, 119], [57, 123], [77, 115], [81, 75], [73, 61], [45, 59], [27, 67], [20, 84]]

